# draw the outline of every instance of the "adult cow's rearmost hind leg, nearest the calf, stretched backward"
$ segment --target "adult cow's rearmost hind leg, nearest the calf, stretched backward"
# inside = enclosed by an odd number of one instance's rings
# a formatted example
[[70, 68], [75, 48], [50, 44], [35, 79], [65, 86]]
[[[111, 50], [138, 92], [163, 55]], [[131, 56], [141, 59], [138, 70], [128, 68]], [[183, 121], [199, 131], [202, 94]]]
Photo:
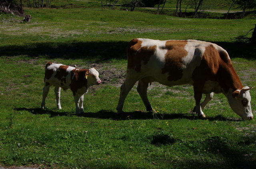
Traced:
[[124, 100], [125, 100], [127, 94], [132, 89], [132, 87], [135, 85], [136, 81], [137, 80], [134, 80], [132, 78], [130, 78], [129, 80], [126, 78], [126, 80], [124, 81], [124, 83], [120, 87], [120, 96], [119, 96], [118, 105], [116, 107], [117, 114], [122, 114], [123, 113], [122, 109], [124, 107]]

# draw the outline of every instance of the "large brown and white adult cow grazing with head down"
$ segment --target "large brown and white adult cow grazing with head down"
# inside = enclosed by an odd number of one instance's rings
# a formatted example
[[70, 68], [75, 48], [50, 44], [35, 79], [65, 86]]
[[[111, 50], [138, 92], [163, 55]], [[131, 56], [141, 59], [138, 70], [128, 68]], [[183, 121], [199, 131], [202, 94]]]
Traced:
[[[196, 40], [133, 39], [127, 47], [127, 75], [120, 88], [117, 114], [122, 113], [124, 100], [138, 81], [137, 91], [146, 110], [152, 111], [147, 88], [151, 82], [166, 86], [191, 84], [194, 86], [194, 111], [205, 118], [202, 109], [213, 93], [223, 93], [232, 110], [246, 120], [253, 118], [248, 86], [243, 86], [230, 57], [222, 47]], [[202, 94], [205, 100], [200, 104]]]

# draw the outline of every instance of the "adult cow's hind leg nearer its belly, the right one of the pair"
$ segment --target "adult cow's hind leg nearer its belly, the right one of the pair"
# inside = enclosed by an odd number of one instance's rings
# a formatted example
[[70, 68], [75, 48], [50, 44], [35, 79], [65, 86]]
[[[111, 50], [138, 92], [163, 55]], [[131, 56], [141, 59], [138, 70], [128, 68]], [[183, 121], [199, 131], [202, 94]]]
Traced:
[[142, 101], [144, 102], [147, 111], [152, 111], [152, 106], [150, 102], [148, 101], [148, 83], [146, 81], [143, 81], [143, 79], [140, 79], [137, 86], [137, 91], [140, 94], [140, 97], [142, 98]]

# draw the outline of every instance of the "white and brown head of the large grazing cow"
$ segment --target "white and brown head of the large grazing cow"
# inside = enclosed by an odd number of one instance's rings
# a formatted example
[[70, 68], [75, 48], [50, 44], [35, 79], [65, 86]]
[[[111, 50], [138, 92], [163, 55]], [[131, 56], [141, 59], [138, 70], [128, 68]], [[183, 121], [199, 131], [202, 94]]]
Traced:
[[248, 86], [245, 86], [241, 90], [230, 92], [227, 97], [232, 110], [244, 120], [252, 120], [253, 118], [250, 104], [251, 96], [249, 92], [252, 88], [253, 87], [249, 88]]

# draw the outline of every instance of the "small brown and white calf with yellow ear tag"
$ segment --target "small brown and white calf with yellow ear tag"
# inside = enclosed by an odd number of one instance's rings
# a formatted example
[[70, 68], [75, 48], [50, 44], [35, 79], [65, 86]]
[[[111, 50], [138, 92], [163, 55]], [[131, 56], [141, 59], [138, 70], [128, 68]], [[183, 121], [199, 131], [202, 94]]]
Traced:
[[60, 89], [70, 89], [73, 92], [76, 104], [76, 114], [84, 113], [84, 94], [87, 93], [90, 86], [99, 85], [100, 83], [99, 73], [94, 68], [76, 69], [74, 67], [48, 62], [45, 66], [41, 108], [45, 108], [45, 98], [49, 92], [50, 86], [54, 85], [58, 109], [61, 109]]

